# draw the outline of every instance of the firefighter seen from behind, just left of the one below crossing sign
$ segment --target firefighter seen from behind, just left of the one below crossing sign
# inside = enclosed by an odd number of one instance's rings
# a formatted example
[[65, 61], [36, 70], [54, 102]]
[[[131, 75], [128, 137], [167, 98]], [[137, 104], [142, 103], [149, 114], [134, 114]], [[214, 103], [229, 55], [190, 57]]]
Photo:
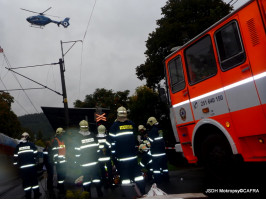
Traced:
[[91, 185], [95, 184], [98, 197], [102, 197], [103, 193], [101, 191], [101, 177], [98, 165], [99, 155], [97, 152], [99, 144], [97, 138], [89, 131], [86, 120], [82, 120], [79, 126], [79, 141], [75, 149], [77, 150], [77, 163], [81, 168], [83, 176], [83, 189], [89, 192], [89, 196], [91, 196]]

